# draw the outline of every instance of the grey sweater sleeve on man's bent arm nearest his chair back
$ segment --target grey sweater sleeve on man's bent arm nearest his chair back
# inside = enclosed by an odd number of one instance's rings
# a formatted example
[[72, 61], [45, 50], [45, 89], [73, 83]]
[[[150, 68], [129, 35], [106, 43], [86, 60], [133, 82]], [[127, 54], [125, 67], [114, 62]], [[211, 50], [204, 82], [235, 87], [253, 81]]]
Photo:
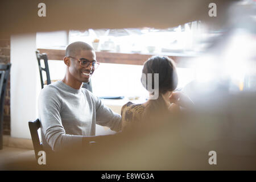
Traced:
[[56, 90], [46, 86], [39, 95], [39, 120], [46, 141], [53, 151], [65, 150], [70, 147], [80, 147], [82, 136], [69, 135], [61, 123], [61, 101]]

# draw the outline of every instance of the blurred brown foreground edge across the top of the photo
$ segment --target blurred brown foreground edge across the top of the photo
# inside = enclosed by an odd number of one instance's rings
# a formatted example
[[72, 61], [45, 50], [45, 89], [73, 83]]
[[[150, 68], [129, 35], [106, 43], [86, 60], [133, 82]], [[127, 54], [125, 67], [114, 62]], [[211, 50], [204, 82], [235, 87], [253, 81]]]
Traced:
[[[13, 34], [88, 28], [169, 28], [203, 20], [213, 26], [226, 23], [234, 0], [45, 0], [46, 16], [39, 17], [37, 0], [1, 0], [0, 38]], [[217, 17], [210, 17], [209, 3], [216, 3]]]

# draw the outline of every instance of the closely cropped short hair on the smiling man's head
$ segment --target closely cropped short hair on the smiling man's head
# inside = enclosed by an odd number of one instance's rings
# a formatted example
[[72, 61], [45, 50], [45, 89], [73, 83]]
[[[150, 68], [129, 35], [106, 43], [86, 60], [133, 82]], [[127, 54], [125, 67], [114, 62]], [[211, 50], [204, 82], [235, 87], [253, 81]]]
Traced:
[[81, 51], [81, 50], [94, 51], [92, 46], [90, 46], [89, 44], [87, 44], [85, 42], [73, 42], [68, 45], [68, 47], [65, 51], [65, 56], [75, 56], [77, 54], [77, 52]]

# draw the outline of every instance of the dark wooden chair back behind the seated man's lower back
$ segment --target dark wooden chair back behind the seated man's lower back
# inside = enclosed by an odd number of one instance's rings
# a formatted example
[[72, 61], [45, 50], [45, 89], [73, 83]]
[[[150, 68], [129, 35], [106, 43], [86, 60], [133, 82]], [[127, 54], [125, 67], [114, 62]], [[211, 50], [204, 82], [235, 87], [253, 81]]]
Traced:
[[39, 119], [36, 119], [34, 121], [28, 121], [28, 127], [30, 127], [30, 134], [32, 138], [32, 143], [34, 146], [34, 151], [35, 151], [35, 157], [36, 160], [38, 160], [38, 152], [43, 151], [43, 144], [39, 140], [38, 136], [38, 129], [40, 129], [40, 121]]

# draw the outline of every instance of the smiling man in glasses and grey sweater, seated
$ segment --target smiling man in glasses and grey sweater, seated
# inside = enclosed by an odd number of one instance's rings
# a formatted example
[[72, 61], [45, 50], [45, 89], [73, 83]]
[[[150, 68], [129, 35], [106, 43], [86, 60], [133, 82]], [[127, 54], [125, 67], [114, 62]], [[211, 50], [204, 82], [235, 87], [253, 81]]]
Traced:
[[39, 96], [43, 146], [53, 151], [97, 140], [99, 137], [93, 137], [96, 123], [114, 131], [121, 129], [121, 116], [81, 88], [98, 66], [93, 48], [84, 42], [69, 44], [64, 63], [67, 71], [63, 80], [46, 86]]

